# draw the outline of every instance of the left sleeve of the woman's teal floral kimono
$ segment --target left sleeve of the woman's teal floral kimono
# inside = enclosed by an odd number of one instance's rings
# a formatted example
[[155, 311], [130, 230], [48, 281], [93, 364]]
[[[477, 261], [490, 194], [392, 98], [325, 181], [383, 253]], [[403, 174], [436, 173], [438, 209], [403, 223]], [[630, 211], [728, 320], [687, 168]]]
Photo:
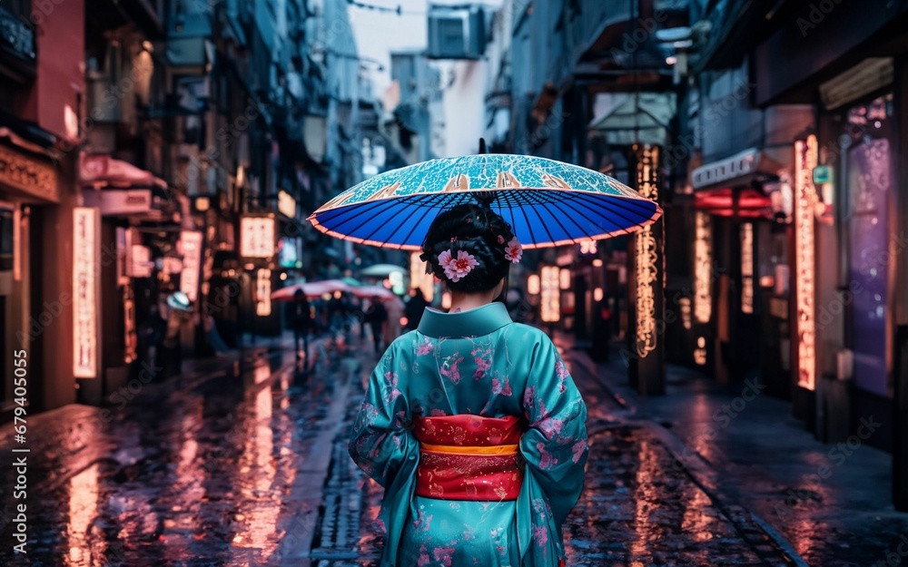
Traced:
[[398, 387], [400, 358], [399, 347], [392, 344], [372, 371], [348, 445], [357, 466], [384, 487], [419, 453], [410, 430], [410, 405]]

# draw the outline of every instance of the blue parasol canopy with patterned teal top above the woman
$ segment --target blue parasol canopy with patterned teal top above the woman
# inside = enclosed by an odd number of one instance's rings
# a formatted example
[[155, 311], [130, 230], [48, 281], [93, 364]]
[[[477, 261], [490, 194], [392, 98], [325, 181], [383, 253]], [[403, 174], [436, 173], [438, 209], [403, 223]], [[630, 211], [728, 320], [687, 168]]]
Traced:
[[491, 199], [491, 209], [525, 249], [627, 234], [662, 215], [656, 202], [597, 171], [490, 153], [385, 171], [328, 201], [309, 220], [341, 239], [415, 250], [441, 210], [483, 199]]

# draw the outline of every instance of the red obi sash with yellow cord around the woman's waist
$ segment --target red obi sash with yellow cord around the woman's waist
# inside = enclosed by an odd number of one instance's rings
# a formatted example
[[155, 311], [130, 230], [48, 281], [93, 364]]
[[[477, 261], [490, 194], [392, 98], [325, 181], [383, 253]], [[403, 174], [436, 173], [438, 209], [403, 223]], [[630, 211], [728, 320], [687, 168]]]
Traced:
[[523, 419], [417, 416], [413, 425], [419, 440], [416, 494], [441, 500], [517, 500], [523, 484], [518, 464]]

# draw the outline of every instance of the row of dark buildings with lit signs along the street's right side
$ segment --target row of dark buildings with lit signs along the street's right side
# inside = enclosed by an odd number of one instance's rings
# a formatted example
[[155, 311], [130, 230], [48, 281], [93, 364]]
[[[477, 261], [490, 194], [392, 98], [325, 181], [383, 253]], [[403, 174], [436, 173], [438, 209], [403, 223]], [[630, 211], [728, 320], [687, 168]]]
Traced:
[[[498, 151], [660, 191], [655, 333], [635, 323], [636, 237], [589, 260], [579, 247], [543, 259], [571, 271], [562, 315], [579, 339], [615, 314], [606, 328], [627, 340], [641, 391], [661, 389], [658, 371], [641, 381], [639, 347], [655, 337], [666, 362], [724, 383], [758, 377], [825, 442], [873, 415], [883, 433], [867, 442], [893, 453], [901, 508], [906, 7], [514, 0], [493, 20], [507, 37], [489, 51], [487, 96]], [[658, 175], [644, 180], [641, 157], [654, 150]]]

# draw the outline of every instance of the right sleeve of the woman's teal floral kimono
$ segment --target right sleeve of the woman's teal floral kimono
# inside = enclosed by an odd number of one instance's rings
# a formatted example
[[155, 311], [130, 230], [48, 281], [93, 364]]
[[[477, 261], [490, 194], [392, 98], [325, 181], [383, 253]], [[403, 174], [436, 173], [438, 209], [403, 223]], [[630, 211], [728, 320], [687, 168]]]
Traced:
[[548, 337], [536, 345], [531, 368], [533, 376], [523, 398], [529, 426], [520, 452], [527, 460], [527, 473], [545, 495], [546, 502], [534, 507], [548, 504], [560, 532], [583, 490], [587, 406]]

